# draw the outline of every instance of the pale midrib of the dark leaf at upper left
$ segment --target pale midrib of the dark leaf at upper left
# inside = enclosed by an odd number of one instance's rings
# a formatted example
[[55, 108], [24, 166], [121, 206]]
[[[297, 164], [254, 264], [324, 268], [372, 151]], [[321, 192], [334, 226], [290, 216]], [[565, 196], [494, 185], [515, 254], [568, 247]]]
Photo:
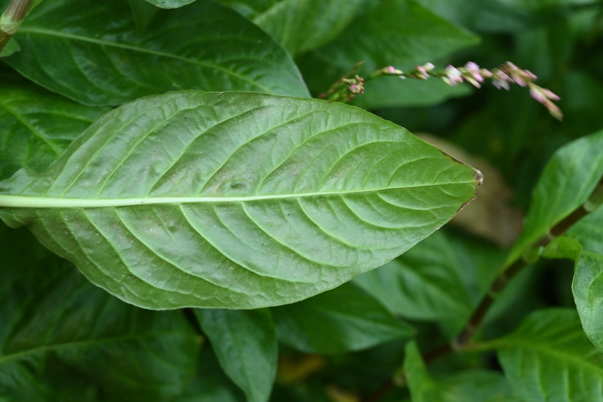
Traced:
[[223, 71], [226, 74], [239, 78], [239, 80], [247, 81], [248, 83], [258, 87], [259, 89], [261, 89], [264, 92], [271, 93], [270, 88], [265, 87], [262, 84], [257, 83], [256, 81], [250, 80], [250, 78], [247, 78], [244, 75], [238, 74], [235, 71], [232, 71], [232, 70], [229, 70], [222, 66], [219, 66], [218, 64], [209, 63], [207, 61], [195, 60], [193, 58], [182, 57], [177, 54], [172, 54], [172, 53], [168, 53], [168, 52], [141, 48], [139, 46], [127, 45], [126, 43], [109, 42], [108, 40], [95, 39], [95, 38], [91, 38], [91, 37], [87, 37], [87, 36], [69, 34], [69, 33], [61, 32], [61, 31], [46, 30], [44, 28], [22, 27], [19, 29], [18, 33], [19, 34], [24, 34], [24, 33], [42, 34], [42, 35], [48, 35], [48, 36], [61, 37], [61, 38], [65, 38], [65, 39], [81, 40], [82, 42], [96, 43], [97, 45], [112, 46], [114, 48], [128, 49], [128, 50], [133, 50], [133, 51], [142, 52], [142, 53], [159, 55], [162, 57], [171, 57], [171, 58], [175, 58], [177, 60], [187, 61], [188, 63], [197, 64], [199, 66], [204, 66], [207, 68], [213, 68], [213, 69], [216, 69], [219, 71]]

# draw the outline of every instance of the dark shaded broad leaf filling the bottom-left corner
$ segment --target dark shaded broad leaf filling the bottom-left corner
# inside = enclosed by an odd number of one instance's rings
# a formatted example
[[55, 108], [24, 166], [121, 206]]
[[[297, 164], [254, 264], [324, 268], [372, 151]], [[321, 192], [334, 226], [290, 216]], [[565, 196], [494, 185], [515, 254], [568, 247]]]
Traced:
[[0, 223], [0, 400], [165, 401], [200, 338], [182, 313], [139, 309]]

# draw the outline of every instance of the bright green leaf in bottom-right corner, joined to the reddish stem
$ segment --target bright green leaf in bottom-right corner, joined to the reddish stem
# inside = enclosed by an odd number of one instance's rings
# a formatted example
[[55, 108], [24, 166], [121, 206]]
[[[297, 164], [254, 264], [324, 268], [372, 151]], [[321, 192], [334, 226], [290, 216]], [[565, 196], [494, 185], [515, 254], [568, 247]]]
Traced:
[[505, 375], [525, 401], [603, 401], [603, 353], [574, 310], [538, 310], [490, 347], [497, 348]]

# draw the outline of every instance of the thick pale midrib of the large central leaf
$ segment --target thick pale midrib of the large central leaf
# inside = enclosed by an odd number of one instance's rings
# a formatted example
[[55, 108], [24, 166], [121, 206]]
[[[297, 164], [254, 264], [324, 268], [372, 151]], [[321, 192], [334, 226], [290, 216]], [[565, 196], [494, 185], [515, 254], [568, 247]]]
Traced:
[[348, 195], [372, 193], [386, 190], [400, 190], [418, 187], [451, 186], [455, 184], [476, 184], [475, 181], [455, 181], [453, 183], [420, 184], [418, 186], [380, 187], [376, 189], [341, 190], [297, 194], [267, 194], [256, 196], [224, 197], [148, 197], [148, 198], [55, 198], [44, 196], [0, 194], [0, 207], [12, 208], [100, 208], [127, 207], [149, 204], [197, 204], [197, 203], [243, 203], [266, 199], [308, 198], [328, 195]]

